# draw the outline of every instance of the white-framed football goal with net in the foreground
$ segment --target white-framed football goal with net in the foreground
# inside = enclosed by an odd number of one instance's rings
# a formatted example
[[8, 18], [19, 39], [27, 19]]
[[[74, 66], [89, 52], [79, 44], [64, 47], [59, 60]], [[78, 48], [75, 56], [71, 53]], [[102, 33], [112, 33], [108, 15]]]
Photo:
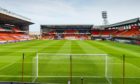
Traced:
[[101, 79], [100, 84], [112, 84], [110, 64], [108, 54], [37, 53], [33, 58], [32, 82], [41, 82], [41, 78], [59, 78], [72, 84], [79, 79]]

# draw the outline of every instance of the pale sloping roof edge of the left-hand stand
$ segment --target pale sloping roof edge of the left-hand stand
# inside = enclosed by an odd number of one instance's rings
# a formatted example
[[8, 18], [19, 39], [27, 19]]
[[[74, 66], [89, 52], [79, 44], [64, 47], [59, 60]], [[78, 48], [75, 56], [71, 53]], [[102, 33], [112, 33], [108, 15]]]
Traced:
[[[1, 8], [1, 7], [0, 7], [0, 15], [6, 16], [6, 19], [8, 17], [10, 17], [10, 18], [18, 20], [20, 22], [26, 23], [26, 24], [27, 23], [28, 24], [34, 24], [33, 22], [31, 22], [31, 19], [29, 19], [27, 17], [24, 17], [22, 15], [19, 15], [19, 14], [13, 13], [13, 12], [11, 12], [11, 11], [9, 11], [7, 9]], [[2, 16], [0, 16], [0, 17], [2, 17]], [[2, 20], [2, 18], [1, 18], [1, 20]], [[18, 21], [16, 21], [16, 22], [18, 22]]]

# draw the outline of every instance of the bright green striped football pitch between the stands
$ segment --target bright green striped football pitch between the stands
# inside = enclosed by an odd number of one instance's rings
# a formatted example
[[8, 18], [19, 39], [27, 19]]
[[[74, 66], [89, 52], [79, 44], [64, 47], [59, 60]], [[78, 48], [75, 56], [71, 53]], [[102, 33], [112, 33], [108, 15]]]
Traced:
[[140, 46], [92, 40], [0, 45], [0, 81], [68, 84], [70, 80], [71, 84], [140, 84]]

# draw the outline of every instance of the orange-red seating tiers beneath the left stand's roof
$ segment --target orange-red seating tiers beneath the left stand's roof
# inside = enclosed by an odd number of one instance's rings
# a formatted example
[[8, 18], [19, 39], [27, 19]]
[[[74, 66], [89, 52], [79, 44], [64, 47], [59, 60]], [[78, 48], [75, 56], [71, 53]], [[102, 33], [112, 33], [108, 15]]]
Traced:
[[18, 28], [2, 27], [0, 30], [0, 41], [1, 42], [17, 42], [29, 40], [29, 36], [25, 34], [24, 31], [21, 31]]

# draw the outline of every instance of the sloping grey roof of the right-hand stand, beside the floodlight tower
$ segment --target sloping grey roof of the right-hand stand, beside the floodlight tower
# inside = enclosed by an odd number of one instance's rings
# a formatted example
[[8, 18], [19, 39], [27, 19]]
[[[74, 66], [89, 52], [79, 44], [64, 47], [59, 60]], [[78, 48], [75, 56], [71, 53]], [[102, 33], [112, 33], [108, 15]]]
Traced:
[[138, 22], [140, 22], [140, 18], [134, 18], [134, 19], [130, 19], [130, 20], [126, 20], [126, 21], [110, 24], [110, 25], [107, 25], [105, 27], [106, 28], [109, 28], [109, 27], [119, 27], [119, 26], [125, 26], [125, 25], [134, 24], [134, 23], [138, 23]]

